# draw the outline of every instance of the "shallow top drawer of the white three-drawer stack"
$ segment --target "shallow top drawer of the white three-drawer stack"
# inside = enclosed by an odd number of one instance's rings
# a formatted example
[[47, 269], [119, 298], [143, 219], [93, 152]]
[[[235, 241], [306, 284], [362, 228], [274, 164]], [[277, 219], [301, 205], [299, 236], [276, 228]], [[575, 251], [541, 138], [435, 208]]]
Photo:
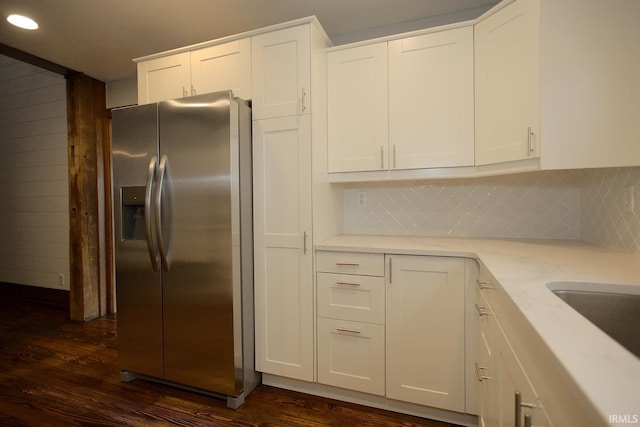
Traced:
[[318, 251], [317, 271], [384, 277], [384, 254]]

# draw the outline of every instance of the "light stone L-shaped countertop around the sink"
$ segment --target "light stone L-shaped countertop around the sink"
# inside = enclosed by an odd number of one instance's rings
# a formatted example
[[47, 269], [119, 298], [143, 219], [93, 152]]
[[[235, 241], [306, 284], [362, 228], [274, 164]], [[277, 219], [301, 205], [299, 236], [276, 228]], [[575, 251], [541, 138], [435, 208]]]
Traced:
[[[480, 260], [602, 419], [608, 420], [609, 415], [640, 416], [640, 359], [547, 287], [548, 283], [564, 281], [587, 282], [587, 288], [604, 283], [640, 294], [640, 253], [572, 240], [365, 235], [336, 236], [315, 249]], [[562, 284], [559, 288], [568, 289]]]

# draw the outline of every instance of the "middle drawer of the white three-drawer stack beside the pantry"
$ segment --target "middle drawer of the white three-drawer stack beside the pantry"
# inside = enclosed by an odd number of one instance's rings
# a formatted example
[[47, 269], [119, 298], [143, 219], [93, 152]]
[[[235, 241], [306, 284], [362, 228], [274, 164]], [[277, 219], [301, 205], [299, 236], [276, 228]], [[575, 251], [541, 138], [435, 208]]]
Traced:
[[318, 273], [318, 316], [384, 324], [384, 277]]

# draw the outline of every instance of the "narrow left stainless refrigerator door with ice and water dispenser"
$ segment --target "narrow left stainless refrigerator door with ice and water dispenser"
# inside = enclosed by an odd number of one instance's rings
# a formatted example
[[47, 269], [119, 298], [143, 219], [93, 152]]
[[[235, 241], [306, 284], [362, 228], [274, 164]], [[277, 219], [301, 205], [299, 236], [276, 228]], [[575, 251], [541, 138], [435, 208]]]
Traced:
[[157, 105], [114, 110], [118, 363], [123, 370], [162, 377], [162, 286], [150, 199], [157, 158]]

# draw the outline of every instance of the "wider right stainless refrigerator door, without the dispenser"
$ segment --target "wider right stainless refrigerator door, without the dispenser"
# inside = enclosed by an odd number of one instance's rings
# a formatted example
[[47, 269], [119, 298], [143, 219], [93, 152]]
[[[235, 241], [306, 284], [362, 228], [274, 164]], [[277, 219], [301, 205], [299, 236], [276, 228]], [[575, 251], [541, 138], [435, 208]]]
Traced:
[[165, 166], [156, 201], [166, 255], [165, 378], [237, 395], [242, 384], [234, 360], [233, 281], [239, 271], [234, 273], [232, 235], [238, 213], [231, 189], [237, 181], [232, 169], [238, 169], [232, 144], [238, 141], [230, 96], [218, 92], [159, 104]]

